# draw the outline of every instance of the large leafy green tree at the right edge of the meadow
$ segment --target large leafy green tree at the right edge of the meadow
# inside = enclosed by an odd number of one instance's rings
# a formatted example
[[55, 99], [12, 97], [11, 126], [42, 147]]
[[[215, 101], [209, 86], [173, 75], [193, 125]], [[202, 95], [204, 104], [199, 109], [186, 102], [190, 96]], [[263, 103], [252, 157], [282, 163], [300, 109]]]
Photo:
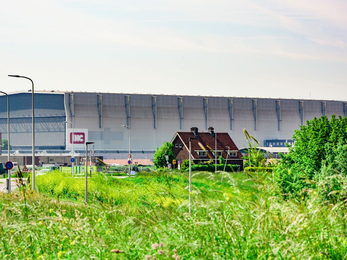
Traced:
[[[315, 180], [322, 166], [339, 168], [336, 161], [344, 162], [347, 117], [332, 115], [330, 121], [326, 116], [314, 118], [295, 130], [293, 140], [295, 146], [289, 148], [288, 154], [281, 155], [275, 176], [284, 193], [299, 195], [303, 189], [312, 188], [310, 180]], [[342, 165], [339, 169], [342, 171]]]

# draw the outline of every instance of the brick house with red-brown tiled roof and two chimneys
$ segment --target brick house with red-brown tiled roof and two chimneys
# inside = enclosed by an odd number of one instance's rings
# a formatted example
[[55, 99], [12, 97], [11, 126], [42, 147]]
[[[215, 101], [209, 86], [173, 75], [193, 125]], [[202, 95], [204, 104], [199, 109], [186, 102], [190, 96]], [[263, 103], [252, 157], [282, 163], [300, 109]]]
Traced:
[[[243, 155], [229, 134], [215, 132], [212, 127], [208, 130], [209, 132], [198, 132], [197, 127], [192, 127], [190, 132], [176, 132], [171, 140], [171, 144], [174, 145], [176, 159], [179, 161], [189, 159], [189, 139], [194, 138], [191, 140], [191, 150], [192, 161], [195, 164], [200, 161], [215, 160], [214, 154], [217, 150], [217, 160], [219, 156], [222, 156], [225, 160], [227, 159], [227, 164], [236, 164], [239, 166], [239, 170], [243, 171]], [[218, 163], [219, 161], [217, 161]]]

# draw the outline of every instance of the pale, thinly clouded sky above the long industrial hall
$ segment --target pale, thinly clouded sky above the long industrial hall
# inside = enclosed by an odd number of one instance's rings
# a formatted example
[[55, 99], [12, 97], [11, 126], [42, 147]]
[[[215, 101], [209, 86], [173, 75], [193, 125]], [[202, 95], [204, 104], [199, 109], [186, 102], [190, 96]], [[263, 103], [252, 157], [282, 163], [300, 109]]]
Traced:
[[0, 0], [0, 90], [347, 100], [347, 1]]

